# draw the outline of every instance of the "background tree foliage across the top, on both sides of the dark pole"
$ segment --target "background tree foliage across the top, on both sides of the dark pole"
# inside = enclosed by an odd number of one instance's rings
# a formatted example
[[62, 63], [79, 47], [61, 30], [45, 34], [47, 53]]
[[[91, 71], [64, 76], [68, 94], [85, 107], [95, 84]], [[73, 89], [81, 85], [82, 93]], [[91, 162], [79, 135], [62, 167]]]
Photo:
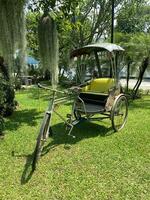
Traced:
[[[84, 0], [74, 2], [74, 4], [69, 1], [63, 1], [63, 3], [55, 1], [54, 6], [54, 1], [47, 0], [40, 1], [40, 3], [30, 1], [26, 15], [29, 54], [39, 58], [38, 21], [41, 17], [41, 10], [50, 9], [57, 23], [59, 76], [62, 77], [69, 69], [69, 54], [72, 49], [99, 40], [110, 42], [111, 4], [112, 1], [106, 0]], [[147, 0], [115, 1], [114, 42], [126, 49], [126, 65], [128, 69], [129, 65], [132, 66], [129, 70], [131, 73], [138, 71], [143, 56], [148, 55], [149, 13], [150, 5]]]

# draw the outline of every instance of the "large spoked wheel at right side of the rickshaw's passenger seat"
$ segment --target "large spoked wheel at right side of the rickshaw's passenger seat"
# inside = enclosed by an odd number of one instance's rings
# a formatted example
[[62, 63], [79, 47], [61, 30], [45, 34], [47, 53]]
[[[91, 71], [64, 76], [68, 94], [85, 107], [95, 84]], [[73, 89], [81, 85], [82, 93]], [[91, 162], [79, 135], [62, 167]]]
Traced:
[[126, 121], [128, 116], [128, 101], [125, 95], [120, 94], [114, 101], [111, 110], [111, 122], [114, 131], [120, 131]]

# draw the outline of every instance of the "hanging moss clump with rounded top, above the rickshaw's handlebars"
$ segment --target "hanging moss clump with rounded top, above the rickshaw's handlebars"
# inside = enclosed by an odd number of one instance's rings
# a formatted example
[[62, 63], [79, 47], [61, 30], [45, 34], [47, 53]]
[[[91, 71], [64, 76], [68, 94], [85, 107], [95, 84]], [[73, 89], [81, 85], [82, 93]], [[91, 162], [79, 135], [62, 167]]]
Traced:
[[42, 67], [51, 73], [51, 83], [58, 83], [58, 34], [56, 22], [49, 14], [44, 14], [39, 21], [39, 52]]

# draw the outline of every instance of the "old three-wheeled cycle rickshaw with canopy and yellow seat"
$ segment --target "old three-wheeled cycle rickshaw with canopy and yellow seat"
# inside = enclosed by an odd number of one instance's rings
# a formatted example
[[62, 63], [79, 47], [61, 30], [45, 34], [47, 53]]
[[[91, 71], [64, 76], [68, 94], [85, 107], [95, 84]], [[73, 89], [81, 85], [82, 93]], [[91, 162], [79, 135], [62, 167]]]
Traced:
[[[73, 127], [83, 119], [93, 121], [109, 118], [114, 131], [120, 131], [124, 127], [128, 114], [128, 102], [119, 82], [120, 58], [123, 51], [123, 48], [111, 43], [90, 44], [76, 49], [71, 53], [71, 58], [74, 59], [76, 65], [79, 85], [64, 91], [38, 85], [52, 90], [52, 97], [37, 137], [33, 154], [33, 170], [36, 168], [44, 142], [49, 135], [52, 135], [53, 112], [65, 122], [68, 135], [71, 135]], [[90, 77], [89, 74], [93, 75]], [[59, 98], [58, 93], [62, 94]], [[55, 107], [67, 102], [68, 97], [73, 99], [72, 111], [65, 119]]]

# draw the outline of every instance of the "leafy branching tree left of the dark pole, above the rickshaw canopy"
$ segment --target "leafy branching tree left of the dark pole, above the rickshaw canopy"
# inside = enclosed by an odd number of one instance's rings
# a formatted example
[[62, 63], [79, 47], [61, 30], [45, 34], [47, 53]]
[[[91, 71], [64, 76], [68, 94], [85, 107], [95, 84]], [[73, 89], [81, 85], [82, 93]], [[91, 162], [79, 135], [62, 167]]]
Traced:
[[[115, 8], [121, 2], [123, 1], [116, 0]], [[30, 1], [29, 9], [33, 15], [37, 16], [37, 12], [41, 10], [43, 12], [49, 10], [52, 17], [55, 18], [59, 37], [60, 69], [67, 69], [69, 53], [72, 49], [98, 41], [101, 37], [108, 37], [111, 23], [111, 3], [111, 0]], [[33, 17], [30, 17], [30, 19], [33, 22], [31, 23], [31, 30], [29, 26], [27, 35], [30, 36], [29, 41], [31, 39], [33, 43], [36, 43], [32, 39], [32, 35], [35, 35], [35, 23]], [[30, 43], [32, 44], [32, 42]], [[33, 48], [34, 46], [35, 52], [36, 44], [32, 45]]]

